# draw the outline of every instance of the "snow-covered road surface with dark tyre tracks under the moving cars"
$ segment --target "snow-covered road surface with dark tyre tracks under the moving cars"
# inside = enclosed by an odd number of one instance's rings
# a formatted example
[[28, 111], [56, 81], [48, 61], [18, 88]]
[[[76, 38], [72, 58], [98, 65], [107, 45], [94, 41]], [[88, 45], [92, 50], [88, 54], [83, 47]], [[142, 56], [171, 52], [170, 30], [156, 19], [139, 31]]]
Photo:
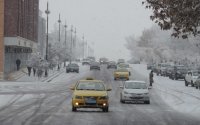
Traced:
[[[133, 66], [132, 79], [147, 80], [147, 75], [143, 65]], [[71, 111], [69, 86], [87, 76], [112, 86], [108, 113], [99, 109]], [[200, 120], [191, 115], [193, 108], [197, 109], [200, 104], [194, 97], [198, 97], [200, 91], [184, 87], [183, 81], [169, 83], [170, 80], [161, 77], [155, 81], [150, 90], [150, 105], [121, 104], [119, 85], [122, 82], [114, 81], [113, 70], [104, 66], [101, 71], [84, 67], [79, 74], [63, 72], [49, 83], [1, 83], [0, 125], [200, 125]], [[190, 104], [193, 108], [181, 111]], [[197, 111], [195, 114], [200, 114]]]

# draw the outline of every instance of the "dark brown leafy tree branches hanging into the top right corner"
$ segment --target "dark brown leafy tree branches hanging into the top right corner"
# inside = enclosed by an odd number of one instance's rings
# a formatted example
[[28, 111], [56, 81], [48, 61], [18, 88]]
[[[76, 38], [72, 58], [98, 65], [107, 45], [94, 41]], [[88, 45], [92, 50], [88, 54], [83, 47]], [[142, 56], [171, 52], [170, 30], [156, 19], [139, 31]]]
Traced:
[[142, 3], [153, 10], [150, 18], [161, 29], [173, 29], [172, 36], [185, 39], [190, 34], [200, 34], [199, 0], [143, 0]]

